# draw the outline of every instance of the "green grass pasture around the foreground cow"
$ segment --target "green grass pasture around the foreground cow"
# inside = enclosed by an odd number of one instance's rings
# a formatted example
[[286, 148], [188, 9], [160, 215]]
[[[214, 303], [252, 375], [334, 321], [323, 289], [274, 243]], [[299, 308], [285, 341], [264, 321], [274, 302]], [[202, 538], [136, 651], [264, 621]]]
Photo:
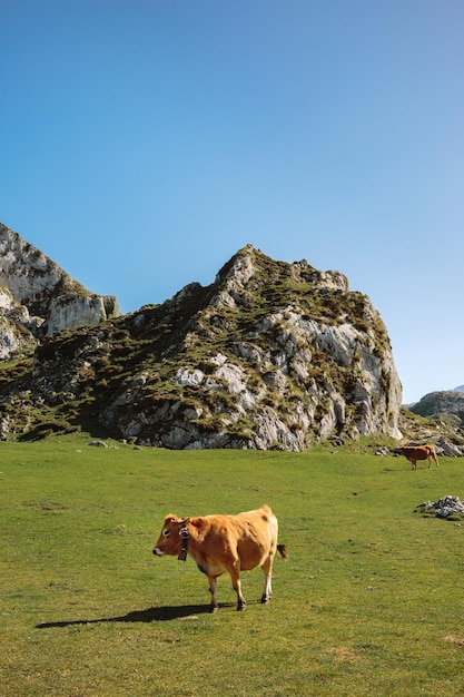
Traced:
[[[462, 695], [464, 523], [414, 508], [464, 495], [462, 460], [0, 443], [0, 695]], [[191, 559], [156, 559], [166, 513], [269, 503], [289, 559], [274, 598], [228, 576], [207, 612]]]

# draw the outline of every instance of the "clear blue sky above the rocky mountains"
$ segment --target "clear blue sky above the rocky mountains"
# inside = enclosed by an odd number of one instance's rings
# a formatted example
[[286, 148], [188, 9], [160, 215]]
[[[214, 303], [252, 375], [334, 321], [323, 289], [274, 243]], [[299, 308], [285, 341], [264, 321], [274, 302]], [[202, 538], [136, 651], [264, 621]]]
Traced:
[[463, 0], [0, 0], [0, 220], [124, 312], [250, 243], [464, 383]]

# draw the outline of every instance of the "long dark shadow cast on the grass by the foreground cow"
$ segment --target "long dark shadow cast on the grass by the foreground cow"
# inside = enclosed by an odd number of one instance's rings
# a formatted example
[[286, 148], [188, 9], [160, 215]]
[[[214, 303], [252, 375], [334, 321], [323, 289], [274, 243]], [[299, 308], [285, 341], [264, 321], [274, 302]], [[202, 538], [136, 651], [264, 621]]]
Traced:
[[[229, 605], [230, 607], [233, 606], [233, 603]], [[221, 603], [221, 607], [227, 606], [228, 603]], [[146, 610], [131, 610], [130, 612], [127, 612], [127, 615], [119, 615], [117, 617], [41, 622], [40, 625], [36, 625], [36, 629], [72, 627], [76, 625], [105, 625], [107, 622], [164, 622], [172, 619], [195, 617], [196, 615], [204, 615], [209, 611], [209, 605], [165, 606], [159, 608], [147, 608]]]

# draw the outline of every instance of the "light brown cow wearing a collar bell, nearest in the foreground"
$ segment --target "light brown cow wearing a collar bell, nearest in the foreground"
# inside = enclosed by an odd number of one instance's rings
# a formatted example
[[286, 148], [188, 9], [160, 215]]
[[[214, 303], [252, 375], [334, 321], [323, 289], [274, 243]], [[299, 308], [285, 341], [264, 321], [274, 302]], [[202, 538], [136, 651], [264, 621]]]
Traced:
[[198, 569], [208, 577], [211, 612], [219, 607], [216, 579], [227, 571], [237, 593], [237, 610], [244, 610], [240, 571], [261, 567], [265, 577], [261, 602], [270, 600], [276, 550], [283, 559], [287, 557], [285, 544], [277, 544], [277, 518], [268, 505], [238, 516], [181, 519], [169, 514], [165, 518], [154, 554], [177, 554], [182, 561], [187, 553], [190, 554]]

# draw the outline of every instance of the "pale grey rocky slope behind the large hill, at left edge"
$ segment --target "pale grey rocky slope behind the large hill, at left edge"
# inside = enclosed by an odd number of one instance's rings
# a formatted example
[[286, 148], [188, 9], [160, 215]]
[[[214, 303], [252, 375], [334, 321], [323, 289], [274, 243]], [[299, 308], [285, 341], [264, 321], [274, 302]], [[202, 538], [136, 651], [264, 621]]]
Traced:
[[119, 314], [113, 296], [90, 293], [0, 224], [0, 359], [27, 353], [59, 330], [99, 324]]

